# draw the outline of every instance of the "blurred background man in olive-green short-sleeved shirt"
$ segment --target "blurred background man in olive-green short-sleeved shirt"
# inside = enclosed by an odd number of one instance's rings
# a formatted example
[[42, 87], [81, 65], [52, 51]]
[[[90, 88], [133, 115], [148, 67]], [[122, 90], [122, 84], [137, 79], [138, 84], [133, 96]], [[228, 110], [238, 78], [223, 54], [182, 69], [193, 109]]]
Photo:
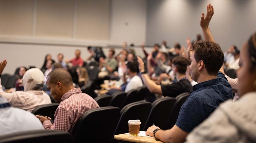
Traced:
[[104, 59], [103, 57], [99, 60], [99, 69], [101, 72], [99, 73], [99, 77], [105, 77], [109, 73], [113, 73], [117, 68], [117, 60], [114, 58], [115, 51], [114, 49], [110, 49], [108, 51], [108, 58]]

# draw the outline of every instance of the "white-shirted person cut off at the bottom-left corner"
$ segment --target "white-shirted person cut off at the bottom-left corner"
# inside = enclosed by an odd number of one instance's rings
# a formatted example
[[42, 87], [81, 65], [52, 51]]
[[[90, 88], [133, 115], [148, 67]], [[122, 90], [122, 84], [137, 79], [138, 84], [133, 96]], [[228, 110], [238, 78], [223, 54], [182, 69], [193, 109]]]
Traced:
[[[0, 66], [3, 66], [3, 64], [0, 64]], [[17, 132], [44, 129], [35, 115], [23, 109], [11, 107], [8, 101], [1, 96], [0, 126], [0, 136]]]

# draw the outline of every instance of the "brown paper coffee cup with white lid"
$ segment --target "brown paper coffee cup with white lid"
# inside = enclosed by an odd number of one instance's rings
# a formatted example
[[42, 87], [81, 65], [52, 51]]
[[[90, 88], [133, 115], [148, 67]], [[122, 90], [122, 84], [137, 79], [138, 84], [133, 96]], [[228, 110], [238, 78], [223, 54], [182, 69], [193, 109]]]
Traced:
[[138, 137], [140, 124], [141, 124], [140, 120], [129, 120], [128, 121], [130, 137], [133, 137], [133, 138]]

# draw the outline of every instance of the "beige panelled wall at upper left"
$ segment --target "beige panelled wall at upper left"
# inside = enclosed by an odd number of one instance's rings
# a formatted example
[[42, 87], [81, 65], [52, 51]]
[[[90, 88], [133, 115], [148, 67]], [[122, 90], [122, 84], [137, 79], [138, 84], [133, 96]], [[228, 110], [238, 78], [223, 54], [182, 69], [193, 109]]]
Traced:
[[0, 0], [0, 36], [108, 40], [110, 1]]

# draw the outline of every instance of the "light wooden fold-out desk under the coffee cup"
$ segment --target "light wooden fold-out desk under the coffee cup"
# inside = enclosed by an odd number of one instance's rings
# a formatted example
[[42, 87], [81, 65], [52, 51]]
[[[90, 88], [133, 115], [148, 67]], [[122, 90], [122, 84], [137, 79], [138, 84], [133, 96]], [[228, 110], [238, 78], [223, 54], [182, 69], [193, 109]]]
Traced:
[[138, 143], [163, 143], [161, 141], [156, 141], [155, 138], [148, 138], [143, 136], [138, 136], [138, 138], [132, 138], [126, 134], [115, 135], [114, 139], [127, 141], [127, 142], [138, 142]]

